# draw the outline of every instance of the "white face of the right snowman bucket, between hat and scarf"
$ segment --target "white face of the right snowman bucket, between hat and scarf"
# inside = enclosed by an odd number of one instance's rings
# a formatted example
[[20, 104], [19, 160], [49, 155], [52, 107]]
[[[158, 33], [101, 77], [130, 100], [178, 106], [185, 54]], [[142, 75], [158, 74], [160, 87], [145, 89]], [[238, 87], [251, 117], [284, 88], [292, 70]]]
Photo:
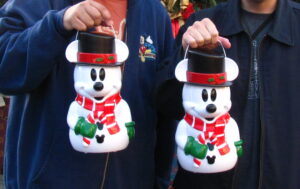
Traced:
[[229, 87], [207, 87], [185, 83], [183, 87], [183, 107], [195, 117], [214, 121], [231, 108]]

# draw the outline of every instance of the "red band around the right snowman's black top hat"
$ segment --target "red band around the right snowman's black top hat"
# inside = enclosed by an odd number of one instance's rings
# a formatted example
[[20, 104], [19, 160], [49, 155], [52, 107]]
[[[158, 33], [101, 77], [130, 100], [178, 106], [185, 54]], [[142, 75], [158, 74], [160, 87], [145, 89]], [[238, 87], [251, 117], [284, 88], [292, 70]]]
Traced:
[[195, 72], [186, 72], [187, 82], [204, 84], [204, 85], [222, 85], [227, 82], [226, 72], [214, 73], [214, 74], [203, 74]]

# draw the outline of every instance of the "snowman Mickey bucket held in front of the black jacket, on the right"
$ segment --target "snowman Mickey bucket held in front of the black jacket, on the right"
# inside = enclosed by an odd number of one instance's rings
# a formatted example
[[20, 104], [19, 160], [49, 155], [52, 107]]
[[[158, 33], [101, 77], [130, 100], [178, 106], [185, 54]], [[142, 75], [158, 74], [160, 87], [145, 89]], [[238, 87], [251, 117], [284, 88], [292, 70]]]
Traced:
[[185, 110], [176, 130], [177, 158], [190, 172], [230, 170], [243, 153], [237, 123], [228, 113], [238, 66], [223, 52], [188, 48], [175, 70], [177, 80], [184, 82]]

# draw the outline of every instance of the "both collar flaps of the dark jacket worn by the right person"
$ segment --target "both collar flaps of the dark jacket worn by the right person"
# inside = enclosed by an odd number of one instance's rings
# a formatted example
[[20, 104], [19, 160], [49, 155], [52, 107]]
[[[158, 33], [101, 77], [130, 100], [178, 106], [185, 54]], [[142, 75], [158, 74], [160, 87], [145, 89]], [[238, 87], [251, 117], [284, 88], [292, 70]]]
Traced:
[[[229, 0], [221, 22], [226, 24], [220, 24], [221, 27], [223, 25], [222, 32], [220, 32], [222, 36], [230, 36], [244, 31], [240, 20], [240, 11], [241, 0]], [[268, 35], [281, 43], [293, 46], [293, 21], [295, 18], [288, 0], [278, 0]]]

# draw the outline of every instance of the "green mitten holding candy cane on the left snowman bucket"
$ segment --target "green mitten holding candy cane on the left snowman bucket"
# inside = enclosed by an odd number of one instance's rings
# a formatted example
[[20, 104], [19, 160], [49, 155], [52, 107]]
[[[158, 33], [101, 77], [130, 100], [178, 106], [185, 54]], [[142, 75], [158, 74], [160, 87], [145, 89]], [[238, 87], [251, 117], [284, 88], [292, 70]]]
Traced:
[[97, 131], [97, 125], [88, 123], [84, 117], [79, 117], [74, 131], [76, 135], [80, 134], [87, 138], [93, 138]]

